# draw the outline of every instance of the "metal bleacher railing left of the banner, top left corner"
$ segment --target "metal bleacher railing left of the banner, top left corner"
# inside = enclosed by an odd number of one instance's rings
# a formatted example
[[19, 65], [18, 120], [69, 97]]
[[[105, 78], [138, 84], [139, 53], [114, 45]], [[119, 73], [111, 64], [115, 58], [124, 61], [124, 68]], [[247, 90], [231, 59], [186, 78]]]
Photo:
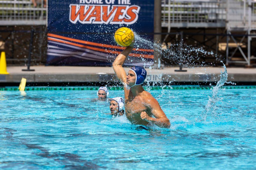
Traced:
[[[36, 1], [36, 0], [35, 0]], [[47, 1], [0, 0], [0, 25], [46, 25]]]

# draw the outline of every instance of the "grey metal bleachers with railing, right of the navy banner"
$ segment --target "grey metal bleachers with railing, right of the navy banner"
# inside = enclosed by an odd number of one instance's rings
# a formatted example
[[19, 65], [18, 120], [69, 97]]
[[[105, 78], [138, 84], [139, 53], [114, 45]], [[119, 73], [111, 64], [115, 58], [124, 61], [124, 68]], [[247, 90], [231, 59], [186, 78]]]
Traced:
[[256, 5], [250, 0], [162, 0], [162, 27], [256, 29]]

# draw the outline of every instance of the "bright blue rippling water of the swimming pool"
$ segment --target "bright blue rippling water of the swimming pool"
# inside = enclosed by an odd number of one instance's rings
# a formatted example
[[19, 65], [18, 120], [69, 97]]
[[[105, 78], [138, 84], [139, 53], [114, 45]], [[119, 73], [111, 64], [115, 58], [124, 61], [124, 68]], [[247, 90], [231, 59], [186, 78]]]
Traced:
[[255, 86], [221, 89], [206, 121], [211, 90], [174, 87], [150, 90], [171, 128], [147, 130], [105, 114], [96, 90], [0, 91], [0, 168], [256, 168]]

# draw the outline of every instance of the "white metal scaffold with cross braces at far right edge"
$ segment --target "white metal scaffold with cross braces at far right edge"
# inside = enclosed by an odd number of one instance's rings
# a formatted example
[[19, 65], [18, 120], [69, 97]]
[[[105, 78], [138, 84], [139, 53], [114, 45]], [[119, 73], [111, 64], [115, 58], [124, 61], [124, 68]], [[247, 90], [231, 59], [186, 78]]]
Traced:
[[[251, 40], [256, 37], [256, 1], [252, 0], [227, 0], [227, 48], [226, 48], [226, 64], [229, 63], [243, 63], [247, 66], [251, 65]], [[232, 32], [245, 32], [244, 36], [238, 40], [232, 35]], [[247, 34], [247, 35], [246, 35]], [[240, 44], [244, 44], [244, 39], [247, 40], [247, 51], [243, 51]], [[229, 55], [229, 41], [236, 43], [237, 47]], [[232, 57], [239, 50], [244, 61], [232, 60]], [[247, 54], [246, 54], [247, 53]]]

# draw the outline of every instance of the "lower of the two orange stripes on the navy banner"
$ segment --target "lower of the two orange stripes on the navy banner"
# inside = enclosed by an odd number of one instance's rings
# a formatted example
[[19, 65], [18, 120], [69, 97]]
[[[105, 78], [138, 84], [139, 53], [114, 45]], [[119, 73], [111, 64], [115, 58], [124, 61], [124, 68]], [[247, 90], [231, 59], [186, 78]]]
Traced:
[[[111, 53], [111, 54], [120, 54], [121, 53], [120, 51], [112, 51], [112, 50], [107, 50], [107, 49], [95, 48], [95, 47], [91, 47], [91, 46], [87, 46], [87, 45], [71, 43], [71, 42], [64, 41], [64, 40], [58, 40], [58, 39], [51, 38], [51, 37], [48, 37], [48, 40], [59, 42], [59, 43], [64, 43], [64, 44], [70, 44], [70, 45], [74, 45], [74, 46], [77, 46], [77, 47], [88, 48], [88, 49], [91, 49], [91, 50], [94, 50], [94, 51], [101, 51], [103, 53]], [[131, 57], [151, 58], [151, 59], [154, 58], [154, 55], [135, 54], [135, 53], [130, 53], [129, 56], [131, 56]]]

